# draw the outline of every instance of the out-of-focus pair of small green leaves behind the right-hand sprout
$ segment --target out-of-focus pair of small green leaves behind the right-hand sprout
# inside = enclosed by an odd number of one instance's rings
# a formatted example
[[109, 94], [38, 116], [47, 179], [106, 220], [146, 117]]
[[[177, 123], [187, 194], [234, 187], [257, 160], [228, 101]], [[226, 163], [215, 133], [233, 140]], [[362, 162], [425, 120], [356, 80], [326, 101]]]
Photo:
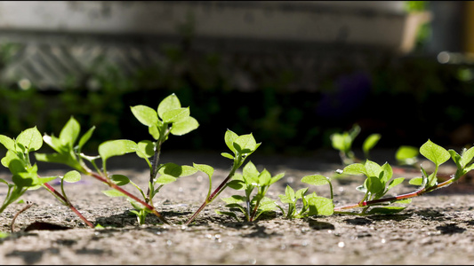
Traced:
[[[333, 148], [339, 151], [339, 156], [341, 157], [342, 164], [349, 165], [351, 163], [359, 161], [354, 152], [352, 152], [352, 143], [354, 139], [358, 137], [360, 133], [360, 127], [356, 124], [349, 131], [343, 133], [334, 133], [331, 135], [331, 144]], [[369, 159], [369, 152], [382, 136], [380, 134], [372, 134], [366, 138], [364, 144], [362, 145], [362, 150], [366, 156], [366, 159]]]

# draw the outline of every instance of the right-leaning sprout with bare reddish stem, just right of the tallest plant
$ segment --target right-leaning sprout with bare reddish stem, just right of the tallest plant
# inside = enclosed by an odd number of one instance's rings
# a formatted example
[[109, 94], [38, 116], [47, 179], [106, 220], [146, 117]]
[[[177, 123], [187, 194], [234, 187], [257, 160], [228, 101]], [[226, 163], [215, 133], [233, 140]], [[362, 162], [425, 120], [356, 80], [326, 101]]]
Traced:
[[222, 181], [222, 183], [211, 193], [212, 190], [212, 176], [213, 176], [213, 168], [206, 166], [206, 165], [197, 165], [195, 164], [195, 168], [204, 172], [207, 176], [209, 176], [209, 192], [205, 197], [204, 203], [197, 209], [197, 211], [191, 215], [186, 225], [191, 223], [197, 215], [207, 206], [207, 204], [213, 202], [219, 194], [229, 185], [229, 181], [236, 174], [236, 171], [242, 164], [244, 163], [245, 159], [248, 158], [250, 154], [255, 152], [255, 150], [261, 145], [261, 143], [256, 143], [255, 138], [251, 134], [241, 135], [238, 136], [236, 133], [230, 131], [229, 129], [226, 131], [224, 136], [224, 140], [226, 145], [229, 147], [230, 151], [234, 153], [234, 155], [230, 153], [221, 153], [221, 155], [225, 158], [233, 160], [234, 163], [232, 168], [230, 169], [229, 175]]

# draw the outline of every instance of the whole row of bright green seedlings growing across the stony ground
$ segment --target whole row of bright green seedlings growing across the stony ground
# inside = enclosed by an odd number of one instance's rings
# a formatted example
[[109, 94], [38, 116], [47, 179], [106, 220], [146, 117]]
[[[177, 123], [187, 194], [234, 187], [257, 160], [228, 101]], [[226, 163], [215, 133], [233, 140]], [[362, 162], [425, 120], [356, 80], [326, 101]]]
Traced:
[[[128, 139], [109, 140], [99, 145], [99, 154], [95, 156], [82, 153], [82, 148], [92, 137], [95, 127], [88, 129], [84, 135], [79, 136], [81, 127], [73, 117], [61, 129], [59, 137], [54, 135], [42, 136], [36, 127], [22, 131], [16, 138], [0, 135], [0, 144], [7, 150], [1, 163], [5, 168], [9, 168], [12, 173], [11, 182], [0, 178], [0, 182], [8, 187], [7, 193], [4, 195], [4, 202], [0, 206], [0, 214], [10, 204], [19, 200], [24, 192], [43, 187], [51, 192], [61, 204], [70, 208], [85, 224], [94, 228], [96, 225], [89, 222], [84, 215], [81, 215], [68, 200], [64, 190], [64, 182], [75, 183], [85, 175], [92, 176], [101, 183], [108, 185], [109, 190], [104, 191], [104, 194], [108, 197], [124, 197], [128, 200], [133, 207], [131, 212], [136, 215], [138, 223], [145, 223], [145, 218], [149, 214], [156, 215], [161, 223], [168, 223], [165, 217], [154, 207], [153, 199], [165, 184], [171, 184], [178, 178], [193, 175], [197, 171], [208, 176], [209, 191], [201, 207], [189, 217], [189, 220], [185, 223], [186, 225], [192, 223], [197, 215], [209, 203], [217, 199], [227, 187], [242, 192], [221, 199], [227, 204], [225, 206], [227, 211], [216, 212], [221, 215], [229, 215], [237, 221], [253, 222], [262, 214], [274, 212], [277, 208], [288, 219], [333, 214], [394, 214], [403, 210], [410, 203], [411, 198], [446, 187], [474, 168], [474, 163], [472, 163], [474, 147], [469, 150], [463, 149], [460, 154], [454, 150], [447, 151], [428, 140], [420, 147], [419, 153], [434, 163], [435, 170], [428, 174], [424, 168], [420, 167], [421, 176], [409, 181], [409, 184], [419, 186], [416, 191], [385, 197], [392, 188], [402, 184], [405, 178], [392, 178], [393, 170], [389, 163], [384, 163], [381, 166], [372, 160], [368, 160], [369, 150], [380, 139], [378, 134], [367, 137], [364, 142], [363, 150], [367, 157], [364, 162], [354, 156], [354, 153], [350, 150], [351, 144], [360, 131], [360, 128], [355, 126], [348, 132], [333, 134], [331, 139], [333, 147], [341, 152], [341, 160], [346, 165], [345, 168], [338, 169], [336, 172], [344, 175], [366, 176], [364, 183], [357, 188], [358, 191], [362, 192], [361, 199], [355, 204], [335, 207], [331, 177], [311, 175], [302, 177], [301, 182], [318, 186], [327, 185], [330, 198], [317, 196], [316, 192], [307, 194], [308, 188], [295, 192], [292, 187], [286, 186], [285, 194], [279, 195], [279, 201], [284, 206], [281, 207], [277, 204], [277, 200], [266, 197], [266, 193], [269, 186], [280, 180], [285, 175], [284, 173], [272, 176], [266, 169], [259, 172], [250, 160], [243, 167], [241, 174], [237, 172], [237, 169], [241, 168], [245, 160], [261, 145], [255, 141], [252, 134], [239, 136], [231, 130], [227, 130], [224, 140], [230, 153], [221, 153], [221, 155], [232, 160], [233, 164], [229, 170], [229, 175], [213, 190], [213, 167], [196, 163], [192, 166], [159, 163], [162, 145], [170, 135], [181, 136], [197, 129], [199, 126], [196, 119], [190, 116], [189, 107], [181, 107], [180, 100], [172, 94], [161, 101], [157, 109], [149, 106], [132, 106], [131, 110], [137, 120], [148, 127], [151, 138], [138, 143]], [[71, 170], [65, 173], [64, 176], [38, 176], [37, 165], [31, 163], [30, 153], [38, 151], [44, 143], [49, 145], [54, 153], [35, 153], [36, 160], [67, 165]], [[108, 172], [107, 160], [125, 153], [136, 153], [137, 156], [146, 161], [149, 166], [148, 187], [141, 188], [127, 176]], [[400, 162], [414, 164], [416, 161], [414, 158], [417, 154], [418, 149], [402, 146], [396, 156]], [[438, 183], [438, 167], [449, 159], [454, 160], [457, 170], [449, 179]], [[100, 162], [100, 168], [97, 162]], [[56, 190], [48, 184], [57, 178], [60, 178], [60, 190]], [[126, 191], [125, 184], [132, 184], [141, 197]], [[358, 208], [360, 211], [349, 211], [354, 208]]]

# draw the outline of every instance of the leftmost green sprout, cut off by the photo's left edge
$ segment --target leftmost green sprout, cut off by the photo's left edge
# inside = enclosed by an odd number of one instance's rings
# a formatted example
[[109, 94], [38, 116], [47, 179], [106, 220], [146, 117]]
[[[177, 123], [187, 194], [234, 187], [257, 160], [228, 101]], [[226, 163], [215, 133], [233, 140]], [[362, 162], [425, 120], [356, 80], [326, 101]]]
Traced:
[[73, 212], [75, 212], [85, 224], [93, 228], [93, 224], [77, 211], [76, 207], [71, 204], [64, 192], [63, 181], [76, 182], [77, 176], [74, 173], [68, 173], [66, 176], [61, 177], [62, 193], [60, 193], [52, 188], [50, 184], [47, 184], [47, 182], [56, 179], [57, 176], [42, 178], [37, 174], [38, 168], [36, 163], [31, 165], [29, 153], [39, 150], [43, 145], [41, 133], [39, 133], [36, 127], [22, 131], [16, 139], [0, 135], [0, 143], [7, 149], [5, 157], [2, 159], [2, 165], [5, 168], [9, 168], [13, 175], [13, 184], [0, 178], [0, 182], [8, 186], [8, 192], [4, 199], [4, 203], [0, 207], [0, 213], [12, 204], [12, 202], [18, 200], [27, 190], [36, 190], [43, 186], [48, 192], [51, 192], [56, 199], [60, 200], [64, 206], [69, 207]]

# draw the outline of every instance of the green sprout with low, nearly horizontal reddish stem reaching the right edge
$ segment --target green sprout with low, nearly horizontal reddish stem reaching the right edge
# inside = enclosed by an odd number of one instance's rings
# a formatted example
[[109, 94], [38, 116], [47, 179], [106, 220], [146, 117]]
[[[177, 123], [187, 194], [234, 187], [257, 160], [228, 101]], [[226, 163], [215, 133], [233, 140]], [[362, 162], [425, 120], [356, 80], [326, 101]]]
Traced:
[[[422, 169], [422, 176], [415, 177], [410, 180], [410, 184], [419, 185], [420, 188], [415, 192], [406, 193], [403, 195], [398, 195], [390, 198], [381, 199], [381, 195], [385, 194], [385, 190], [383, 189], [382, 181], [388, 181], [385, 176], [387, 174], [390, 175], [390, 168], [385, 164], [382, 167], [377, 167], [376, 164], [373, 162], [369, 162], [368, 165], [361, 165], [361, 164], [354, 164], [349, 165], [348, 167], [344, 168], [343, 171], [347, 174], [365, 174], [367, 177], [366, 182], [364, 184], [364, 189], [366, 190], [366, 195], [364, 199], [359, 201], [358, 204], [353, 204], [344, 207], [335, 207], [335, 213], [343, 213], [344, 210], [348, 210], [355, 207], [363, 207], [363, 212], [361, 215], [368, 215], [368, 214], [375, 214], [375, 213], [382, 213], [382, 214], [392, 214], [402, 210], [405, 207], [378, 207], [373, 208], [371, 211], [366, 212], [367, 207], [373, 207], [377, 205], [389, 205], [394, 202], [398, 203], [409, 203], [411, 198], [421, 196], [424, 193], [432, 192], [442, 187], [446, 187], [450, 184], [453, 184], [457, 181], [461, 176], [466, 175], [470, 170], [474, 168], [474, 163], [472, 163], [472, 158], [474, 157], [474, 147], [470, 148], [469, 150], [463, 149], [462, 153], [456, 153], [454, 150], [446, 151], [445, 148], [434, 144], [430, 141], [430, 139], [420, 147], [420, 153], [428, 160], [432, 161], [435, 164], [435, 171], [428, 175], [424, 168]], [[445, 163], [446, 160], [449, 160], [451, 157], [454, 160], [457, 170], [454, 175], [438, 184], [438, 168], [441, 164]], [[377, 173], [379, 173], [377, 177]], [[403, 177], [399, 177], [393, 179], [390, 184], [389, 188], [394, 187], [397, 184], [400, 184]], [[379, 181], [377, 181], [378, 179]], [[360, 189], [360, 187], [359, 187]], [[364, 189], [360, 189], [364, 191]], [[381, 193], [382, 192], [382, 193]], [[348, 213], [353, 214], [353, 213]]]

